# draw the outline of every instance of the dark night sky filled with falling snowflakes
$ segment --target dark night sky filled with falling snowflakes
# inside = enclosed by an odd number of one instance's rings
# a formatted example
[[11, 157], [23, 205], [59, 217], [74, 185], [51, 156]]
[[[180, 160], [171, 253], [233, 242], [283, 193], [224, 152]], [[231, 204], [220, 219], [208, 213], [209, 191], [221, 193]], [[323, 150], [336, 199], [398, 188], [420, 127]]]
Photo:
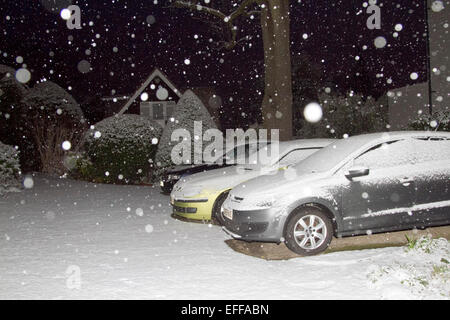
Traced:
[[[228, 51], [215, 48], [220, 33], [205, 19], [169, 9], [169, 1], [0, 2], [0, 64], [16, 69], [26, 64], [32, 73], [29, 86], [51, 80], [83, 103], [95, 96], [130, 94], [158, 67], [179, 87], [215, 87], [230, 112], [261, 99], [256, 79], [264, 74], [259, 18], [239, 25], [240, 37], [250, 40]], [[69, 30], [60, 17], [70, 2], [81, 8], [81, 30]], [[230, 1], [230, 7], [239, 2]], [[307, 54], [322, 65], [324, 84], [374, 96], [426, 80], [424, 1], [382, 2], [381, 30], [366, 27], [369, 14], [363, 3], [292, 0], [293, 60]], [[403, 27], [398, 37], [393, 36], [396, 24]], [[378, 36], [386, 38], [384, 48], [374, 46]], [[18, 56], [23, 63], [16, 62]], [[78, 70], [83, 60], [92, 68], [88, 73]], [[418, 80], [410, 79], [412, 72]]]

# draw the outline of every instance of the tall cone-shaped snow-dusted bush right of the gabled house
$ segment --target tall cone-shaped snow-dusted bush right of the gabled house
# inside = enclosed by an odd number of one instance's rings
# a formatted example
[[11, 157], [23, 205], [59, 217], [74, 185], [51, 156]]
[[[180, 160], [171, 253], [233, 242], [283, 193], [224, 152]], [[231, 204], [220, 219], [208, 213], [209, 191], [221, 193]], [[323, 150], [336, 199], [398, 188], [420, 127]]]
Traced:
[[[191, 135], [191, 159], [194, 159], [193, 141], [194, 121], [202, 121], [202, 132], [208, 129], [217, 129], [216, 123], [212, 120], [202, 101], [191, 90], [186, 90], [177, 103], [175, 115], [169, 120], [161, 137], [156, 153], [156, 175], [160, 176], [168, 167], [173, 165], [171, 159], [172, 148], [178, 141], [171, 141], [172, 132], [177, 129], [186, 129]], [[198, 137], [202, 139], [202, 137]]]

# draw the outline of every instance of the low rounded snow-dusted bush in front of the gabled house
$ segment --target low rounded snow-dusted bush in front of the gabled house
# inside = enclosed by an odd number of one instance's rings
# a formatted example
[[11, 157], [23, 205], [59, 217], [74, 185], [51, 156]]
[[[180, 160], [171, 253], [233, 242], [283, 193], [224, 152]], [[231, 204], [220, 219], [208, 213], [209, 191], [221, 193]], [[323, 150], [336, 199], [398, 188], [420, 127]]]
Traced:
[[158, 123], [139, 115], [106, 118], [87, 132], [72, 175], [102, 183], [148, 181], [161, 133]]

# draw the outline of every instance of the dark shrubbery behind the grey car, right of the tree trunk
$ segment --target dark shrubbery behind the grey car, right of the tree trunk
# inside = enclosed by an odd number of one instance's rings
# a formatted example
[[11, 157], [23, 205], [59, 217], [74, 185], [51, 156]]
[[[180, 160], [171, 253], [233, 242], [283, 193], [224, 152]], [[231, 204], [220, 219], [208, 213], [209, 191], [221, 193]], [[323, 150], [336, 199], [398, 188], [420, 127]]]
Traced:
[[373, 97], [349, 93], [339, 95], [322, 92], [319, 103], [323, 117], [318, 123], [301, 121], [297, 136], [302, 138], [342, 138], [344, 134], [385, 131], [388, 124], [387, 106]]

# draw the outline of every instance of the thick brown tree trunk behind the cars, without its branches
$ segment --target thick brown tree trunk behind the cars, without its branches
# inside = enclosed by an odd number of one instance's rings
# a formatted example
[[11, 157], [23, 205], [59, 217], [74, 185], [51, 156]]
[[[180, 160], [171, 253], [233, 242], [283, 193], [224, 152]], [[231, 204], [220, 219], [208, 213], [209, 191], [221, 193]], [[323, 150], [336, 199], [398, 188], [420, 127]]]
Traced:
[[264, 128], [279, 129], [280, 140], [292, 139], [292, 79], [289, 0], [268, 1], [261, 12], [264, 42]]

